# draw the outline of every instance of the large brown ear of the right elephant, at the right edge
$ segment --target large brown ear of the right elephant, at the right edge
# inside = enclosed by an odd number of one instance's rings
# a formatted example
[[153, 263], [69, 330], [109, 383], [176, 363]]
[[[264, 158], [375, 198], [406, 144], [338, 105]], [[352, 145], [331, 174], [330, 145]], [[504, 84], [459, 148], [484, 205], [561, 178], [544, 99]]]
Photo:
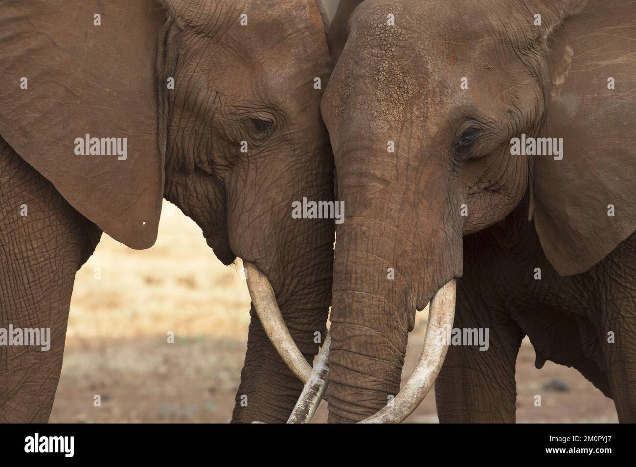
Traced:
[[590, 1], [548, 39], [543, 136], [563, 138], [563, 159], [536, 156], [532, 194], [541, 245], [563, 276], [636, 230], [634, 6]]

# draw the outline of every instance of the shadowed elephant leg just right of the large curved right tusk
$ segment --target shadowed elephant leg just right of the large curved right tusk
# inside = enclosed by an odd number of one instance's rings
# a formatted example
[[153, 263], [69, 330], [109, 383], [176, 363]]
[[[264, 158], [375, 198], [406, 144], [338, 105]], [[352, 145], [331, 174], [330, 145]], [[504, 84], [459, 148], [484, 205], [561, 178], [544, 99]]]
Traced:
[[440, 423], [515, 423], [515, 362], [523, 332], [491, 313], [460, 280], [453, 330], [488, 329], [488, 348], [480, 350], [474, 342], [448, 347], [435, 382]]

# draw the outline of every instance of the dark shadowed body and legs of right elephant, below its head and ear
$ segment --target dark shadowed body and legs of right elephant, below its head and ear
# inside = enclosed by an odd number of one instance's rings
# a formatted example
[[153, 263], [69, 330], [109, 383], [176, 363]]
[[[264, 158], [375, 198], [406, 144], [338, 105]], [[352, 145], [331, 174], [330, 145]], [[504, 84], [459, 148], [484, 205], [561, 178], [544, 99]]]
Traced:
[[[529, 273], [535, 267], [541, 280]], [[537, 368], [546, 360], [576, 368], [614, 399], [621, 423], [632, 423], [635, 277], [636, 234], [590, 271], [560, 276], [527, 222], [527, 202], [503, 222], [466, 236], [454, 327], [488, 328], [490, 347], [449, 346], [435, 386], [439, 421], [514, 423], [515, 362], [527, 335]], [[609, 331], [614, 344], [607, 342]]]

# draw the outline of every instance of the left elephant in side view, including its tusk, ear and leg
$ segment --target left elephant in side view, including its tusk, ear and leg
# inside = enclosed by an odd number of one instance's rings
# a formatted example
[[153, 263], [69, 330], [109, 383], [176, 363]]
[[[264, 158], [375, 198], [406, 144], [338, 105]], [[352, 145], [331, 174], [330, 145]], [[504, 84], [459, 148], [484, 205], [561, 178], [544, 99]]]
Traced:
[[319, 0], [0, 0], [0, 421], [48, 421], [76, 271], [102, 232], [151, 247], [162, 198], [245, 266], [232, 421], [287, 419], [331, 302], [333, 219], [290, 207], [333, 200], [325, 25]]

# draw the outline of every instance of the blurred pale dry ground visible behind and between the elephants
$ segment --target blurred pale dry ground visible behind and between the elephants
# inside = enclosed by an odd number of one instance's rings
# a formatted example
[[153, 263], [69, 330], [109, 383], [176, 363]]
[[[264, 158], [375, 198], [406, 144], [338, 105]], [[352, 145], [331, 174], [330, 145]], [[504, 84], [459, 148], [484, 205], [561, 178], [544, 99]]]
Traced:
[[[333, 17], [338, 0], [324, 3]], [[223, 266], [196, 224], [167, 201], [153, 248], [131, 250], [103, 234], [77, 274], [50, 421], [230, 421], [249, 325], [240, 267]], [[427, 310], [417, 313], [403, 382], [422, 348], [426, 319]], [[551, 362], [535, 369], [527, 339], [516, 379], [518, 423], [618, 422], [612, 401], [576, 370]], [[541, 407], [534, 407], [536, 394]], [[322, 402], [314, 423], [326, 418]], [[434, 391], [407, 421], [438, 422]]]

